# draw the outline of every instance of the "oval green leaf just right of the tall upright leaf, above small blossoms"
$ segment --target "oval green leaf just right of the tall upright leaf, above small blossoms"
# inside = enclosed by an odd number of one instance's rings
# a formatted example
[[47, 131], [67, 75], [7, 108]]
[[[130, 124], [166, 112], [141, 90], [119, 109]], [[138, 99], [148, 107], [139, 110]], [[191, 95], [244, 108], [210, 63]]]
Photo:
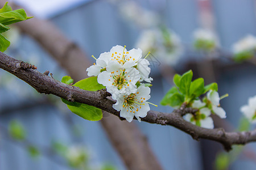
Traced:
[[204, 79], [198, 78], [193, 80], [189, 88], [189, 94], [190, 95], [193, 94], [195, 95], [195, 97], [198, 97], [203, 93], [204, 93]]

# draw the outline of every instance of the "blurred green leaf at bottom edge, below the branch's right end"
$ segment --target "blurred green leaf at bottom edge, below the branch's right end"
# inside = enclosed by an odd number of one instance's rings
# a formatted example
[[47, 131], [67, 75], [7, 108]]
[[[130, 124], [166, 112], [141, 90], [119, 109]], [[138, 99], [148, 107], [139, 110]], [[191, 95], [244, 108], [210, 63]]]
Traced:
[[228, 169], [230, 163], [229, 155], [225, 152], [217, 154], [215, 159], [216, 170]]

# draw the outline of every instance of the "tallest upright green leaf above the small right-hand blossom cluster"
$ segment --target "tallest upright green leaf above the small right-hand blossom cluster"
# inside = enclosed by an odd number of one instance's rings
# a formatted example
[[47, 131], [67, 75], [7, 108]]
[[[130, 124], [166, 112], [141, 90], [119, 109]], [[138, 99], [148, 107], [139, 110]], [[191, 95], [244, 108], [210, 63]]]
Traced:
[[189, 96], [189, 87], [191, 84], [192, 76], [193, 72], [192, 70], [189, 70], [186, 73], [184, 73], [180, 78], [179, 89], [180, 92], [186, 96]]

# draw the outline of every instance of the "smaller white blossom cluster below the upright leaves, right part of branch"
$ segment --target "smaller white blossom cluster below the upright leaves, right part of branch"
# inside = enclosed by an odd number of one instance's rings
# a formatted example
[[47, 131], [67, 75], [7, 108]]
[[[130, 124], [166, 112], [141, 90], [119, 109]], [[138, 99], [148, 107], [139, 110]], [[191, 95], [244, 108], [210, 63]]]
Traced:
[[220, 118], [226, 118], [226, 112], [220, 106], [220, 96], [218, 92], [210, 90], [203, 101], [194, 100], [192, 108], [198, 109], [194, 114], [187, 113], [183, 116], [184, 120], [203, 128], [213, 129], [213, 120], [210, 113], [217, 114]]

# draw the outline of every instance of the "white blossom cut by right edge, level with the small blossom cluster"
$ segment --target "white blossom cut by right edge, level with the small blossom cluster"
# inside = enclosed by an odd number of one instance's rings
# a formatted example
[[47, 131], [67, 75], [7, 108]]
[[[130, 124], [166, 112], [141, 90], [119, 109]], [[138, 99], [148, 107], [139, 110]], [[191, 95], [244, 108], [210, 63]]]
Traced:
[[250, 97], [248, 105], [243, 105], [240, 111], [245, 114], [245, 117], [251, 122], [256, 123], [256, 96]]

